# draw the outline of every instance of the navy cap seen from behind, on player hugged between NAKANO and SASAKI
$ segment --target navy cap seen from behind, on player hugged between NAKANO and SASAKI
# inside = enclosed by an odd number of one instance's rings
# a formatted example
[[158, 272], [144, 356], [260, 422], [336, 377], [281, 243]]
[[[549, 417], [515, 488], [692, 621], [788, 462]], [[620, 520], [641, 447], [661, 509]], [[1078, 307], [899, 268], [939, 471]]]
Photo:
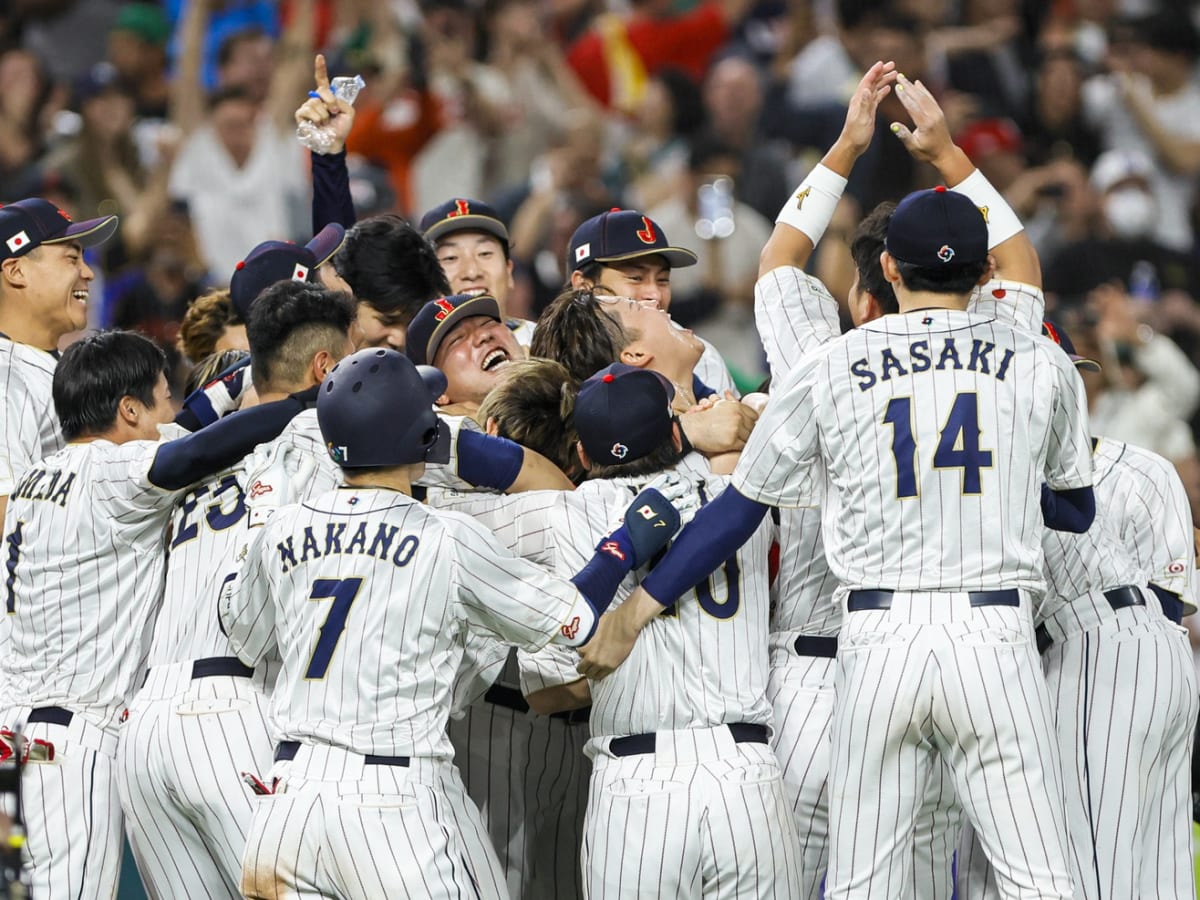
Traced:
[[580, 385], [575, 431], [592, 462], [634, 462], [671, 437], [674, 386], [649, 368], [613, 362]]

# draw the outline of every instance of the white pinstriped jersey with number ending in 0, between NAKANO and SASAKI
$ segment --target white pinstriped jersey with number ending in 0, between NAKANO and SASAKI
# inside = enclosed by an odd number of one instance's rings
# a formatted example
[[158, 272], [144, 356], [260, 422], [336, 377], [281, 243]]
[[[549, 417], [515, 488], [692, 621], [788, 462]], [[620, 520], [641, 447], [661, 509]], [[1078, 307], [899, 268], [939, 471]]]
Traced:
[[[598, 479], [574, 492], [539, 491], [499, 498], [490, 508], [482, 503], [457, 508], [494, 524], [510, 546], [568, 575], [583, 568], [600, 535], [617, 524], [650, 480]], [[725, 479], [709, 476], [696, 490], [712, 498], [724, 486]], [[592, 683], [593, 736], [769, 721], [767, 554], [772, 539], [768, 518], [733, 559], [684, 594], [672, 614], [659, 617], [638, 635], [620, 668]], [[626, 576], [613, 607], [646, 571]], [[557, 647], [520, 658], [527, 694], [580, 678], [578, 656]]]

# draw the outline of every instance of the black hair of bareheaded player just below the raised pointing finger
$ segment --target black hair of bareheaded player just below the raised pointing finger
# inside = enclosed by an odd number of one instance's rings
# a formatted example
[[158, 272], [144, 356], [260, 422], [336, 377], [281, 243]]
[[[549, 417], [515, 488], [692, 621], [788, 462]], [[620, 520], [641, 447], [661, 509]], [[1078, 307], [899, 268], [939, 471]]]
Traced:
[[407, 325], [425, 304], [450, 293], [433, 244], [394, 214], [364, 218], [348, 230], [334, 268], [389, 325]]

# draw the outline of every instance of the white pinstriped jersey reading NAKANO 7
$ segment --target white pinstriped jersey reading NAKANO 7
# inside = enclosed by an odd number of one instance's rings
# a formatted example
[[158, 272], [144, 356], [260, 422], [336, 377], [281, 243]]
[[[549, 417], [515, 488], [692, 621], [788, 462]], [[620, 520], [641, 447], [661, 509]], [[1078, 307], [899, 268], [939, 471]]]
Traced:
[[466, 516], [341, 488], [258, 529], [221, 617], [247, 665], [278, 648], [281, 738], [450, 757], [467, 625], [535, 649], [582, 605], [574, 584], [512, 557]]

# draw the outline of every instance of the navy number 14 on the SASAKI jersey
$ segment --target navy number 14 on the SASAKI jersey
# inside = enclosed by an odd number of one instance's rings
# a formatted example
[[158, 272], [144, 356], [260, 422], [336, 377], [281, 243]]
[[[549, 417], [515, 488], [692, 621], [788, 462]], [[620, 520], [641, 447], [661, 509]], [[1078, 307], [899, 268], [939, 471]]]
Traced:
[[[883, 424], [892, 426], [892, 455], [896, 463], [896, 497], [918, 496], [917, 440], [913, 437], [912, 397], [893, 397], [883, 413]], [[946, 416], [937, 449], [935, 469], [961, 469], [964, 494], [983, 493], [980, 469], [991, 468], [991, 450], [979, 449], [979, 397], [959, 394]]]

